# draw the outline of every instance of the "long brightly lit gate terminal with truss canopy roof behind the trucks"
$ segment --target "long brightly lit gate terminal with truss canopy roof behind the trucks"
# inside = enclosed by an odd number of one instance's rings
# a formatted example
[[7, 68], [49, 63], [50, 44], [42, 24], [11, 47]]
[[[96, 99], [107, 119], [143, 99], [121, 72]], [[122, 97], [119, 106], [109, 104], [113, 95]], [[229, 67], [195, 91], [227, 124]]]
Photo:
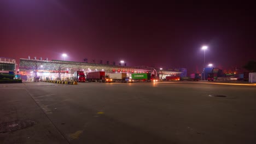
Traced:
[[71, 62], [59, 60], [42, 60], [42, 59], [26, 59], [20, 58], [20, 75], [21, 79], [31, 81], [34, 77], [40, 77], [45, 80], [57, 79], [72, 79], [75, 71], [84, 71], [89, 73], [92, 71], [105, 71], [106, 75], [109, 73], [127, 73], [130, 76], [132, 73], [152, 73], [158, 77], [165, 77], [167, 75], [180, 75], [181, 71], [165, 71], [156, 70], [154, 68], [132, 68], [120, 65], [107, 65], [85, 62]]

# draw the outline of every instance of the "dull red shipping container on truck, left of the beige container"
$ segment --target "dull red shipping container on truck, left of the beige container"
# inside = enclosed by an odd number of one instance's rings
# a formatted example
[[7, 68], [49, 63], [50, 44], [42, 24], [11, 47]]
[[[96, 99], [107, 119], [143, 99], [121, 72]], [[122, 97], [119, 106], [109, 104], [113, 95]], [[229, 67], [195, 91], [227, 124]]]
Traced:
[[86, 73], [86, 80], [88, 80], [89, 82], [105, 82], [105, 71], [95, 71]]

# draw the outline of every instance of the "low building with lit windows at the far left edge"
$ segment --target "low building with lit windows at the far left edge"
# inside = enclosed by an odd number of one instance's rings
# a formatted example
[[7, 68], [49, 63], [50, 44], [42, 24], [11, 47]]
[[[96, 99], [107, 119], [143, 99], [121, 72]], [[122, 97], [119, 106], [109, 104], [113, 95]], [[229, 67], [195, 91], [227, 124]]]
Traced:
[[14, 74], [15, 69], [15, 59], [0, 57], [0, 74]]

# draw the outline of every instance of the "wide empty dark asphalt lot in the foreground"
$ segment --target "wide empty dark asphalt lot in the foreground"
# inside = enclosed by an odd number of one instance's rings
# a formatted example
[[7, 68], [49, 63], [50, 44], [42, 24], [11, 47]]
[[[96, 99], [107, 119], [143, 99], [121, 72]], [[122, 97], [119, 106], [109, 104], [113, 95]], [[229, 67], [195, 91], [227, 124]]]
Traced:
[[256, 143], [256, 86], [232, 84], [1, 84], [0, 143]]

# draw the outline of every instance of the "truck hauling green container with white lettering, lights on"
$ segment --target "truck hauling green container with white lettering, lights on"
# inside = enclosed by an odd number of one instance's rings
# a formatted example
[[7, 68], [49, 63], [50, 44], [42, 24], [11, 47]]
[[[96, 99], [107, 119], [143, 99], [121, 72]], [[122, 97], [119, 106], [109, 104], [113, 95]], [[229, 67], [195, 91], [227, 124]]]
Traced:
[[144, 82], [156, 82], [158, 81], [155, 75], [151, 73], [142, 73], [142, 74], [131, 74], [133, 81], [144, 81]]

